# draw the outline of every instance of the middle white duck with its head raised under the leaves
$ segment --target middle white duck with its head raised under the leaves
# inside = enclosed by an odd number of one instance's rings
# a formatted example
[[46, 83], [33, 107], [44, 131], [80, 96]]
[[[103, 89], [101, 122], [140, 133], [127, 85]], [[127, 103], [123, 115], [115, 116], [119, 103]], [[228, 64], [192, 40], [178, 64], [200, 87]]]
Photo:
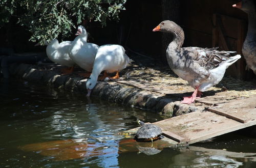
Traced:
[[[82, 25], [78, 26], [77, 33], [75, 35], [77, 35], [77, 37], [74, 39], [72, 46], [70, 47], [70, 57], [80, 68], [87, 72], [92, 72], [93, 63], [99, 46], [87, 42], [88, 34]], [[90, 74], [83, 73], [81, 75], [88, 77]]]

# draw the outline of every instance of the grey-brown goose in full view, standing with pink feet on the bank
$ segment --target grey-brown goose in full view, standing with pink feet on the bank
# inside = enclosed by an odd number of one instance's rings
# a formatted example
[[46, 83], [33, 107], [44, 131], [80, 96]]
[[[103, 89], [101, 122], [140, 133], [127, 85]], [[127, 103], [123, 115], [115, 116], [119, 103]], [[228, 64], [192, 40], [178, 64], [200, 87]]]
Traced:
[[173, 21], [162, 21], [153, 32], [160, 31], [173, 34], [173, 40], [166, 50], [170, 68], [188, 84], [195, 88], [190, 97], [184, 97], [182, 103], [193, 103], [208, 88], [217, 85], [226, 69], [241, 58], [241, 55], [227, 57], [234, 51], [218, 51], [217, 48], [183, 47], [184, 32]]

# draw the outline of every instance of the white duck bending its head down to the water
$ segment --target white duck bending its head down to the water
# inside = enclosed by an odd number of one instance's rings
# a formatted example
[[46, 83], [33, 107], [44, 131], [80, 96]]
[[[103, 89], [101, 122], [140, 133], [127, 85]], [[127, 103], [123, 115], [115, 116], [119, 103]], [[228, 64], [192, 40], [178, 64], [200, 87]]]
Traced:
[[121, 45], [106, 44], [99, 47], [93, 65], [91, 76], [86, 82], [88, 90], [87, 96], [90, 96], [92, 89], [95, 87], [99, 74], [104, 71], [102, 79], [108, 77], [107, 73], [116, 72], [112, 79], [118, 79], [118, 72], [130, 63], [129, 57], [125, 54], [125, 50]]

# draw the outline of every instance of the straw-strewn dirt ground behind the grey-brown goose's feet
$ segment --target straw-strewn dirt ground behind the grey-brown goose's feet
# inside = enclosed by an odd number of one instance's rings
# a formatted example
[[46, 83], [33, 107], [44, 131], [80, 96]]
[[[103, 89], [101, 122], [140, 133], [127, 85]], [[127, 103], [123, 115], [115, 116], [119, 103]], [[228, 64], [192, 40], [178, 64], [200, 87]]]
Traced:
[[[178, 77], [169, 66], [163, 65], [152, 58], [130, 54], [134, 60], [126, 69], [120, 72], [122, 83], [137, 88], [166, 94], [169, 96], [189, 96], [194, 89], [187, 81]], [[243, 81], [230, 76], [224, 76], [221, 82], [203, 93], [203, 100], [212, 103], [226, 102], [233, 99], [256, 96], [256, 80]]]

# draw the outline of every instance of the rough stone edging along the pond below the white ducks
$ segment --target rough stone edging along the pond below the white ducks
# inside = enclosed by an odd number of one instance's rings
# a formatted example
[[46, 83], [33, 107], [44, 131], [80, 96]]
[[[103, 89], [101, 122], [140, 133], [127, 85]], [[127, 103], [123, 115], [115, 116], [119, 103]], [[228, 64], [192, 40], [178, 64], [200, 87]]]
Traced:
[[[86, 81], [78, 75], [60, 75], [58, 68], [45, 68], [36, 65], [12, 64], [10, 74], [31, 82], [41, 82], [48, 86], [77, 94], [86, 94]], [[181, 104], [176, 97], [139, 89], [115, 81], [98, 81], [92, 96], [140, 109], [152, 110], [166, 117], [178, 116], [204, 107]]]

